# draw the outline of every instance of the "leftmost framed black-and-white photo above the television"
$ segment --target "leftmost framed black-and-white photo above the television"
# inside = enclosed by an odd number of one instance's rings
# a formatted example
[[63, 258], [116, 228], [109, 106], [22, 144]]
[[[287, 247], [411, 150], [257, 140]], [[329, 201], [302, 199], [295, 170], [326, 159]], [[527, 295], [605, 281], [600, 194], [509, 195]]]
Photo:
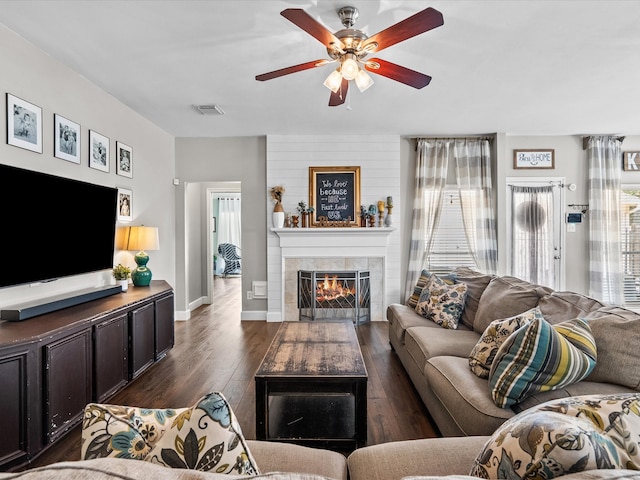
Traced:
[[42, 108], [7, 93], [7, 143], [42, 153]]

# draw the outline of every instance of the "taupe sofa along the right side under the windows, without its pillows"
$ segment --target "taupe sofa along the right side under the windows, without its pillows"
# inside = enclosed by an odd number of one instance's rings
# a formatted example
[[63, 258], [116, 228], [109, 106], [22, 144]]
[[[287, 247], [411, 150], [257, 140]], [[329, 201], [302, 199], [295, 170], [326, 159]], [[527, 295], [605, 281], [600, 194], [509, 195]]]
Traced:
[[[413, 302], [387, 308], [387, 319], [390, 344], [442, 435], [491, 435], [515, 414], [548, 400], [640, 389], [640, 314], [515, 277], [458, 268], [447, 280], [466, 286], [464, 309], [457, 328], [443, 328], [416, 311], [429, 275], [423, 272]], [[470, 354], [492, 322], [534, 307], [554, 327], [584, 319], [597, 348], [595, 367], [580, 381], [497, 406], [489, 381], [470, 368]]]

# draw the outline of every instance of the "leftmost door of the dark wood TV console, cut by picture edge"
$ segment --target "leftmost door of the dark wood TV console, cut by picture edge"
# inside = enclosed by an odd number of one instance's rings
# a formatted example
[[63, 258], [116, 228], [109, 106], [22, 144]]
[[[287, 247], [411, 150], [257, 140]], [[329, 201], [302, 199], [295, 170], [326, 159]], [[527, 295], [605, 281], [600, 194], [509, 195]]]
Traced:
[[[26, 460], [28, 455], [29, 352], [0, 357], [0, 465], [6, 467]], [[35, 382], [35, 379], [34, 379]]]

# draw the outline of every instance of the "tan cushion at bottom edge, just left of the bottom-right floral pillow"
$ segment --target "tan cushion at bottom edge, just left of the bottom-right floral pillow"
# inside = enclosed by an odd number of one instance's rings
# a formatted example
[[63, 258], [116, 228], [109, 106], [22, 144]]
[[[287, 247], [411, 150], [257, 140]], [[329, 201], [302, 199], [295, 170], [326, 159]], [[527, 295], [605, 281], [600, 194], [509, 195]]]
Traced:
[[489, 437], [426, 438], [360, 448], [347, 459], [349, 478], [400, 480], [410, 475], [468, 475], [487, 440]]

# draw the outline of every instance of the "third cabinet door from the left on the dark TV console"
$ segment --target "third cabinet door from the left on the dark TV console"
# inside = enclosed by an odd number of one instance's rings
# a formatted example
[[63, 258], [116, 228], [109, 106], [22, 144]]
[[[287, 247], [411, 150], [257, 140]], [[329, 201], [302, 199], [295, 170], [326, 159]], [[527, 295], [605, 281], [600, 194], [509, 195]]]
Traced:
[[93, 398], [104, 403], [129, 381], [127, 314], [99, 323], [94, 327], [93, 335]]

